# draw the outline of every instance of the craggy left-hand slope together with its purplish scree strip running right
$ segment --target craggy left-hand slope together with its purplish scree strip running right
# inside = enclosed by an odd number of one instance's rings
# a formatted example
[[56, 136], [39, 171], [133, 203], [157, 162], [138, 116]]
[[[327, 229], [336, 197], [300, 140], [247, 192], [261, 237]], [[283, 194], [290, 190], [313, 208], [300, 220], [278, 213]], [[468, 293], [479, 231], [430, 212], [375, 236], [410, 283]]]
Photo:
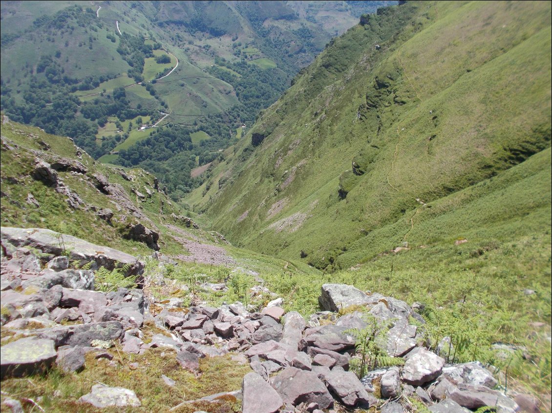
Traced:
[[[148, 257], [154, 252], [152, 244], [132, 232], [142, 224], [158, 235], [155, 249], [184, 272], [219, 278], [236, 267], [243, 272], [318, 273], [302, 263], [233, 247], [219, 234], [205, 231], [201, 218], [194, 225], [190, 217], [198, 217], [173, 203], [157, 187], [157, 178], [144, 170], [95, 162], [67, 137], [13, 122], [3, 113], [0, 126], [2, 226], [46, 228]], [[44, 173], [44, 166], [37, 173], [41, 161], [47, 162], [51, 175]], [[249, 276], [247, 281], [254, 279]]]

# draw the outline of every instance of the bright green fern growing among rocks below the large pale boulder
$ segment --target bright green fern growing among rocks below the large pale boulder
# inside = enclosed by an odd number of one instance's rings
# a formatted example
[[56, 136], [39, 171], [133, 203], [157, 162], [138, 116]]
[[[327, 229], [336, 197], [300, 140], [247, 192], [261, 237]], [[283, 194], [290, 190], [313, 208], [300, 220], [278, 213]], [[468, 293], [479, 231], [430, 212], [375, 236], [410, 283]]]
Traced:
[[[402, 366], [405, 361], [400, 357], [389, 357], [384, 350], [389, 331], [389, 320], [379, 322], [372, 314], [363, 316], [368, 325], [363, 329], [350, 328], [344, 333], [351, 334], [355, 338], [355, 350], [360, 355], [360, 365], [354, 366], [359, 377], [363, 377], [367, 370], [376, 367]], [[351, 367], [351, 366], [349, 366]]]

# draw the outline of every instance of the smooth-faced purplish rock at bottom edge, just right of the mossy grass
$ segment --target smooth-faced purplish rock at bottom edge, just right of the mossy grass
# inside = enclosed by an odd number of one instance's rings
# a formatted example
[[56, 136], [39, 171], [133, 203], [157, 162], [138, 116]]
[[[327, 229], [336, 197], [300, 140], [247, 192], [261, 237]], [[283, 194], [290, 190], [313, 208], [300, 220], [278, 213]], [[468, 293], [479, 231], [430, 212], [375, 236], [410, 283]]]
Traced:
[[243, 377], [242, 394], [242, 413], [275, 413], [284, 404], [276, 390], [257, 373]]

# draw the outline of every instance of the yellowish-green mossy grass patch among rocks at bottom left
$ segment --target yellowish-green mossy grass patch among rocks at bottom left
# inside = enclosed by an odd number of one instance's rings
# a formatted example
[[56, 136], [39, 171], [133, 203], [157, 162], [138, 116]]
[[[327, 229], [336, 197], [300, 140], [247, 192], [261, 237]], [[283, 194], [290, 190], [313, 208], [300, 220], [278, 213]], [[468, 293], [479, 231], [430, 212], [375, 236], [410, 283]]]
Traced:
[[[94, 352], [89, 352], [85, 368], [79, 373], [67, 374], [53, 368], [41, 376], [4, 379], [2, 396], [34, 400], [41, 398], [40, 405], [53, 413], [120, 411], [120, 407], [95, 409], [91, 405], [78, 403], [78, 398], [87, 394], [92, 385], [102, 383], [134, 390], [142, 405], [132, 411], [168, 411], [184, 400], [197, 400], [211, 394], [237, 390], [241, 388], [243, 376], [251, 371], [248, 365], [238, 365], [230, 356], [205, 357], [200, 359], [199, 374], [196, 376], [178, 364], [173, 350], [150, 349], [144, 355], [128, 355], [113, 349], [109, 352], [114, 356], [114, 363], [105, 358], [97, 360]], [[133, 363], [137, 363], [137, 367]], [[220, 374], [221, 371], [225, 374]], [[161, 378], [163, 374], [176, 381], [176, 384], [170, 387], [164, 383]], [[195, 404], [183, 406], [178, 411], [194, 411], [189, 410], [193, 406]], [[240, 403], [235, 398], [221, 398], [220, 403], [205, 406], [208, 411], [214, 411], [214, 406], [219, 411], [236, 412], [239, 411], [236, 409]]]

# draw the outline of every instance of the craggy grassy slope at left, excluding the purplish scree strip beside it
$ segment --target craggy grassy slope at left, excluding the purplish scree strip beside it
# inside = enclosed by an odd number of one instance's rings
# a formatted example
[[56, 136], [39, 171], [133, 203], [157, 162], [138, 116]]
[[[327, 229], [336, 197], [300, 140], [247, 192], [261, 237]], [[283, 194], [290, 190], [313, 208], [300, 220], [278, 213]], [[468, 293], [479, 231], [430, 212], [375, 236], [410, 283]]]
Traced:
[[2, 115], [1, 150], [2, 225], [47, 227], [57, 232], [47, 236], [57, 237], [65, 249], [71, 241], [60, 233], [146, 254], [174, 243], [172, 237], [160, 239], [160, 218], [176, 226], [195, 225], [156, 177], [99, 164], [70, 138]]

